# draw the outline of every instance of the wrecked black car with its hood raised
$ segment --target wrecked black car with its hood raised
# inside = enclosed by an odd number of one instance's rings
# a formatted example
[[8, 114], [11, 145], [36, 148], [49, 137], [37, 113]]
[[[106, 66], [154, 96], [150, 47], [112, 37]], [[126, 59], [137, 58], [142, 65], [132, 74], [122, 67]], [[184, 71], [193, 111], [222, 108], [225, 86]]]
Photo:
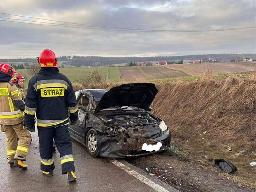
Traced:
[[166, 150], [171, 133], [163, 120], [148, 112], [157, 93], [152, 83], [78, 90], [79, 119], [69, 125], [70, 135], [93, 157], [124, 158]]

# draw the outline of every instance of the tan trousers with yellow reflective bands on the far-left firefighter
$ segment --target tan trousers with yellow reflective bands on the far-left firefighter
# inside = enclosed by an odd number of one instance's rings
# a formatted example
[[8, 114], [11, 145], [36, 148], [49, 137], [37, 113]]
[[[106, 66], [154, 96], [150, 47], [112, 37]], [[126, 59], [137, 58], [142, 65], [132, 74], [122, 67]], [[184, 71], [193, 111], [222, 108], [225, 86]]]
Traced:
[[6, 134], [8, 163], [14, 162], [14, 159], [26, 161], [28, 148], [31, 142], [31, 135], [29, 131], [27, 129], [23, 129], [22, 123], [18, 125], [1, 125], [1, 131]]

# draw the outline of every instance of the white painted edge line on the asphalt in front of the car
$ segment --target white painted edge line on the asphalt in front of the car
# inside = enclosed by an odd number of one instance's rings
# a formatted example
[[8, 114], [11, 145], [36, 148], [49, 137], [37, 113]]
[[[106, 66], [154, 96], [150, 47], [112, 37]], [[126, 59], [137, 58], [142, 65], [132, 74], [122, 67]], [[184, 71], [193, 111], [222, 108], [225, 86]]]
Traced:
[[130, 167], [127, 167], [126, 165], [122, 164], [121, 162], [119, 162], [118, 160], [115, 159], [111, 159], [110, 160], [113, 164], [115, 164], [116, 166], [120, 167], [121, 169], [125, 170], [128, 174], [134, 176], [135, 178], [137, 178], [138, 180], [142, 181], [143, 183], [145, 183], [146, 185], [150, 186], [151, 188], [155, 189], [155, 191], [157, 192], [169, 192], [168, 190], [166, 190], [165, 188], [161, 187], [160, 185], [156, 184], [155, 182], [149, 180], [148, 178], [146, 178], [145, 176], [139, 174], [138, 172], [132, 170]]

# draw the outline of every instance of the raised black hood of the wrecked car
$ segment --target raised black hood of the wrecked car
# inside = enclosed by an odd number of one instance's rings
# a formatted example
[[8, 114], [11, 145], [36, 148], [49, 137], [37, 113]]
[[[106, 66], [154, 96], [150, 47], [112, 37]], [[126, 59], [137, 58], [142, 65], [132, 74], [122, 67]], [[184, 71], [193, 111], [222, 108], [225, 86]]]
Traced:
[[132, 106], [148, 110], [158, 93], [155, 84], [130, 83], [113, 87], [106, 92], [95, 109], [95, 113], [110, 107]]

